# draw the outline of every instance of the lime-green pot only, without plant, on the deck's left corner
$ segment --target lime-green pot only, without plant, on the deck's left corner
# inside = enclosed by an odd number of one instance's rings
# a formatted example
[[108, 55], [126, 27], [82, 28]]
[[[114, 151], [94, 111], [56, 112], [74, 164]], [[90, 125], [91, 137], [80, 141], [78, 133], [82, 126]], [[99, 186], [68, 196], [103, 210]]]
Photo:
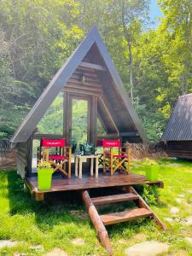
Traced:
[[38, 190], [51, 188], [53, 168], [38, 168]]

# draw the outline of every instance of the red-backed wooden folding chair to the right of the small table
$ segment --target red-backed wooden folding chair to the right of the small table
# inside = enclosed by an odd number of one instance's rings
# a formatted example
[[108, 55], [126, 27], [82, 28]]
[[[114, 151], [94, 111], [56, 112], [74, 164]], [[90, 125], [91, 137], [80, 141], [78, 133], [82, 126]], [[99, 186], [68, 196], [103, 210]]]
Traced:
[[[103, 171], [111, 175], [117, 170], [130, 173], [130, 149], [121, 147], [120, 140], [102, 140]], [[117, 148], [117, 152], [115, 152]]]

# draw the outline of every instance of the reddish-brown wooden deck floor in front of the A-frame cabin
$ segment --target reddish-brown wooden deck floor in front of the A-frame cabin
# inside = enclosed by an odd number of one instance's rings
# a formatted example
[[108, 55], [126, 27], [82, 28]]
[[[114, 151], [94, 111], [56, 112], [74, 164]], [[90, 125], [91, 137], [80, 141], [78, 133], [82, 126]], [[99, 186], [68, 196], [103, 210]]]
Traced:
[[52, 178], [52, 187], [49, 190], [38, 190], [38, 177], [26, 177], [25, 183], [33, 194], [44, 194], [55, 191], [67, 191], [67, 190], [82, 190], [82, 189], [96, 189], [96, 188], [108, 188], [119, 186], [131, 186], [136, 184], [156, 184], [160, 188], [163, 187], [161, 181], [148, 181], [143, 175], [136, 173], [119, 174], [116, 173], [113, 176], [103, 175], [99, 173], [99, 177], [90, 177], [90, 173], [83, 173], [83, 177], [71, 178], [61, 177], [61, 175], [54, 175]]

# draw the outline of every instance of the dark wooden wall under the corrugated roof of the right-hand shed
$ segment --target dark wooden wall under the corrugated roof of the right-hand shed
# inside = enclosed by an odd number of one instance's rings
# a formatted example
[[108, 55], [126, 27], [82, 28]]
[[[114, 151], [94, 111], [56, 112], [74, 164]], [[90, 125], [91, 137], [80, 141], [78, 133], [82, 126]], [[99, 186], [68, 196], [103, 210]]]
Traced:
[[166, 153], [171, 157], [192, 160], [192, 141], [167, 142]]

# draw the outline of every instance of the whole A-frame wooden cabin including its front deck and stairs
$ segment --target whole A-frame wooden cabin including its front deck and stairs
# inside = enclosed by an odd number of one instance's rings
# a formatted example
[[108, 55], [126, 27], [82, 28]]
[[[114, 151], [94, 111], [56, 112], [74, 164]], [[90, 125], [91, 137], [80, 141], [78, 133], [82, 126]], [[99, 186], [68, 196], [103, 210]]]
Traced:
[[[58, 119], [58, 121], [62, 120], [62, 127], [61, 129], [56, 129], [54, 134], [40, 132], [37, 129], [38, 123], [44, 118], [44, 114], [59, 94], [63, 97], [61, 104], [63, 111]], [[34, 141], [37, 143], [43, 137], [51, 139], [65, 137], [67, 144], [72, 144], [74, 100], [86, 102], [87, 121], [85, 130], [88, 142], [96, 144], [96, 141], [101, 138], [119, 138], [122, 143], [143, 143], [147, 141], [143, 126], [131, 105], [129, 96], [96, 27], [91, 29], [83, 42], [69, 57], [67, 63], [61, 67], [49, 82], [47, 88], [15, 132], [11, 143], [15, 144], [17, 148], [17, 171], [24, 178], [27, 187], [29, 187], [37, 200], [43, 200], [44, 194], [52, 191], [81, 190], [88, 211], [91, 208], [93, 215], [96, 208], [85, 189], [121, 187], [129, 192], [126, 195], [109, 196], [107, 199], [95, 199], [95, 204], [106, 203], [106, 200], [107, 202], [110, 200], [138, 201], [137, 205], [140, 208], [139, 210], [134, 210], [135, 212], [125, 212], [124, 216], [121, 214], [119, 217], [118, 215], [103, 216], [103, 219], [99, 218], [99, 224], [97, 223], [98, 218], [96, 218], [96, 225], [98, 224], [96, 230], [99, 232], [101, 240], [104, 239], [102, 242], [110, 253], [108, 234], [106, 235], [107, 231], [103, 228], [103, 224], [113, 224], [146, 216], [156, 218], [154, 213], [137, 195], [137, 192], [131, 188], [131, 185], [156, 183], [162, 187], [163, 183], [159, 181], [149, 182], [146, 177], [134, 173], [129, 175], [103, 175], [102, 170], [99, 172], [99, 177], [90, 177], [89, 173], [87, 175], [86, 172], [83, 172], [83, 178], [79, 179], [73, 175], [73, 170], [72, 177], [54, 176], [52, 178], [52, 188], [44, 191], [44, 193], [39, 191], [37, 173], [33, 170]], [[100, 120], [104, 129], [102, 134], [98, 132], [97, 119]], [[49, 126], [49, 123], [46, 125]], [[85, 165], [86, 163], [84, 163], [84, 169]], [[96, 216], [94, 215], [91, 218]], [[165, 228], [158, 218], [156, 218], [156, 221], [162, 228]]]

